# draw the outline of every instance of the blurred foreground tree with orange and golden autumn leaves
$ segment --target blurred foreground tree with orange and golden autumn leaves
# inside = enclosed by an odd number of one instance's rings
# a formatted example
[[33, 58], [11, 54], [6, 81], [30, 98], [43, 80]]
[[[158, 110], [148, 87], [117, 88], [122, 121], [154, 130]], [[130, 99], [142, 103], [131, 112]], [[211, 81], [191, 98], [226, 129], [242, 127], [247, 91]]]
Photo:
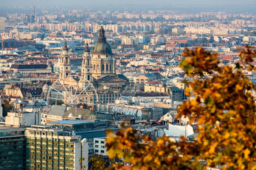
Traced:
[[[202, 48], [185, 50], [183, 55], [179, 66], [193, 79], [186, 82], [185, 92], [196, 97], [180, 104], [178, 118], [185, 115], [189, 123], [198, 122], [197, 140], [188, 142], [181, 136], [173, 143], [163, 136], [152, 141], [123, 127], [108, 132], [109, 158], [123, 159], [132, 169], [256, 169], [256, 86], [242, 73], [256, 70], [256, 50], [246, 46], [234, 66], [220, 66], [217, 53]], [[122, 169], [120, 164], [113, 167]]]

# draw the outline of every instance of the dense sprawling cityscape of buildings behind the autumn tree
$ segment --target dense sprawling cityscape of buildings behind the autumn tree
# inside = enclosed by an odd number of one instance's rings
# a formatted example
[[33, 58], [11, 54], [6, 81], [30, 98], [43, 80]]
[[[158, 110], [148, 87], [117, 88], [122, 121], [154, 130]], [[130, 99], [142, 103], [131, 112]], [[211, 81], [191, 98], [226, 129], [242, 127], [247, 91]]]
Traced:
[[1, 11], [0, 35], [0, 169], [90, 169], [91, 157], [108, 160], [105, 131], [122, 122], [195, 141], [197, 122], [177, 118], [196, 97], [182, 52], [202, 46], [235, 66], [256, 46], [256, 13], [29, 6]]

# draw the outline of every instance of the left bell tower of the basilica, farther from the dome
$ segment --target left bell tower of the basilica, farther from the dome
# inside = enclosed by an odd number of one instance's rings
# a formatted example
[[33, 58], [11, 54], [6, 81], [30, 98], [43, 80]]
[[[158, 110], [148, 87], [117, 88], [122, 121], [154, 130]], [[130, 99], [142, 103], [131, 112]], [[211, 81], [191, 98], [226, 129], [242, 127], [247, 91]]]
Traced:
[[70, 74], [70, 67], [70, 56], [68, 54], [67, 42], [65, 41], [60, 60], [60, 78], [64, 78]]

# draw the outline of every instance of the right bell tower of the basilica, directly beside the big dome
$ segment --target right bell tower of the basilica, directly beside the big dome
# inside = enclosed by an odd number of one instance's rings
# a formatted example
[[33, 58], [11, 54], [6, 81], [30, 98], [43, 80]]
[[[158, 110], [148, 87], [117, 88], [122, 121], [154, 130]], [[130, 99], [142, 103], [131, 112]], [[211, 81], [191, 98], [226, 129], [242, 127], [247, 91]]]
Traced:
[[92, 81], [92, 64], [91, 64], [91, 56], [88, 43], [84, 48], [83, 53], [83, 62], [81, 66], [81, 76], [89, 81]]

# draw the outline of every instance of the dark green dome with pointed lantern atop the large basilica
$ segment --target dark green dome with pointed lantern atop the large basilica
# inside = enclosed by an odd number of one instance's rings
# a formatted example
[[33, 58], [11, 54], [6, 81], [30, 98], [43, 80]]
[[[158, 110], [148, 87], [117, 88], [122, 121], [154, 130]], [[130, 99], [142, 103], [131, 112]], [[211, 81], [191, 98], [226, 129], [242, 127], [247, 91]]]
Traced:
[[105, 31], [103, 27], [99, 30], [99, 38], [97, 43], [92, 48], [93, 54], [110, 54], [112, 55], [111, 46], [106, 41]]

